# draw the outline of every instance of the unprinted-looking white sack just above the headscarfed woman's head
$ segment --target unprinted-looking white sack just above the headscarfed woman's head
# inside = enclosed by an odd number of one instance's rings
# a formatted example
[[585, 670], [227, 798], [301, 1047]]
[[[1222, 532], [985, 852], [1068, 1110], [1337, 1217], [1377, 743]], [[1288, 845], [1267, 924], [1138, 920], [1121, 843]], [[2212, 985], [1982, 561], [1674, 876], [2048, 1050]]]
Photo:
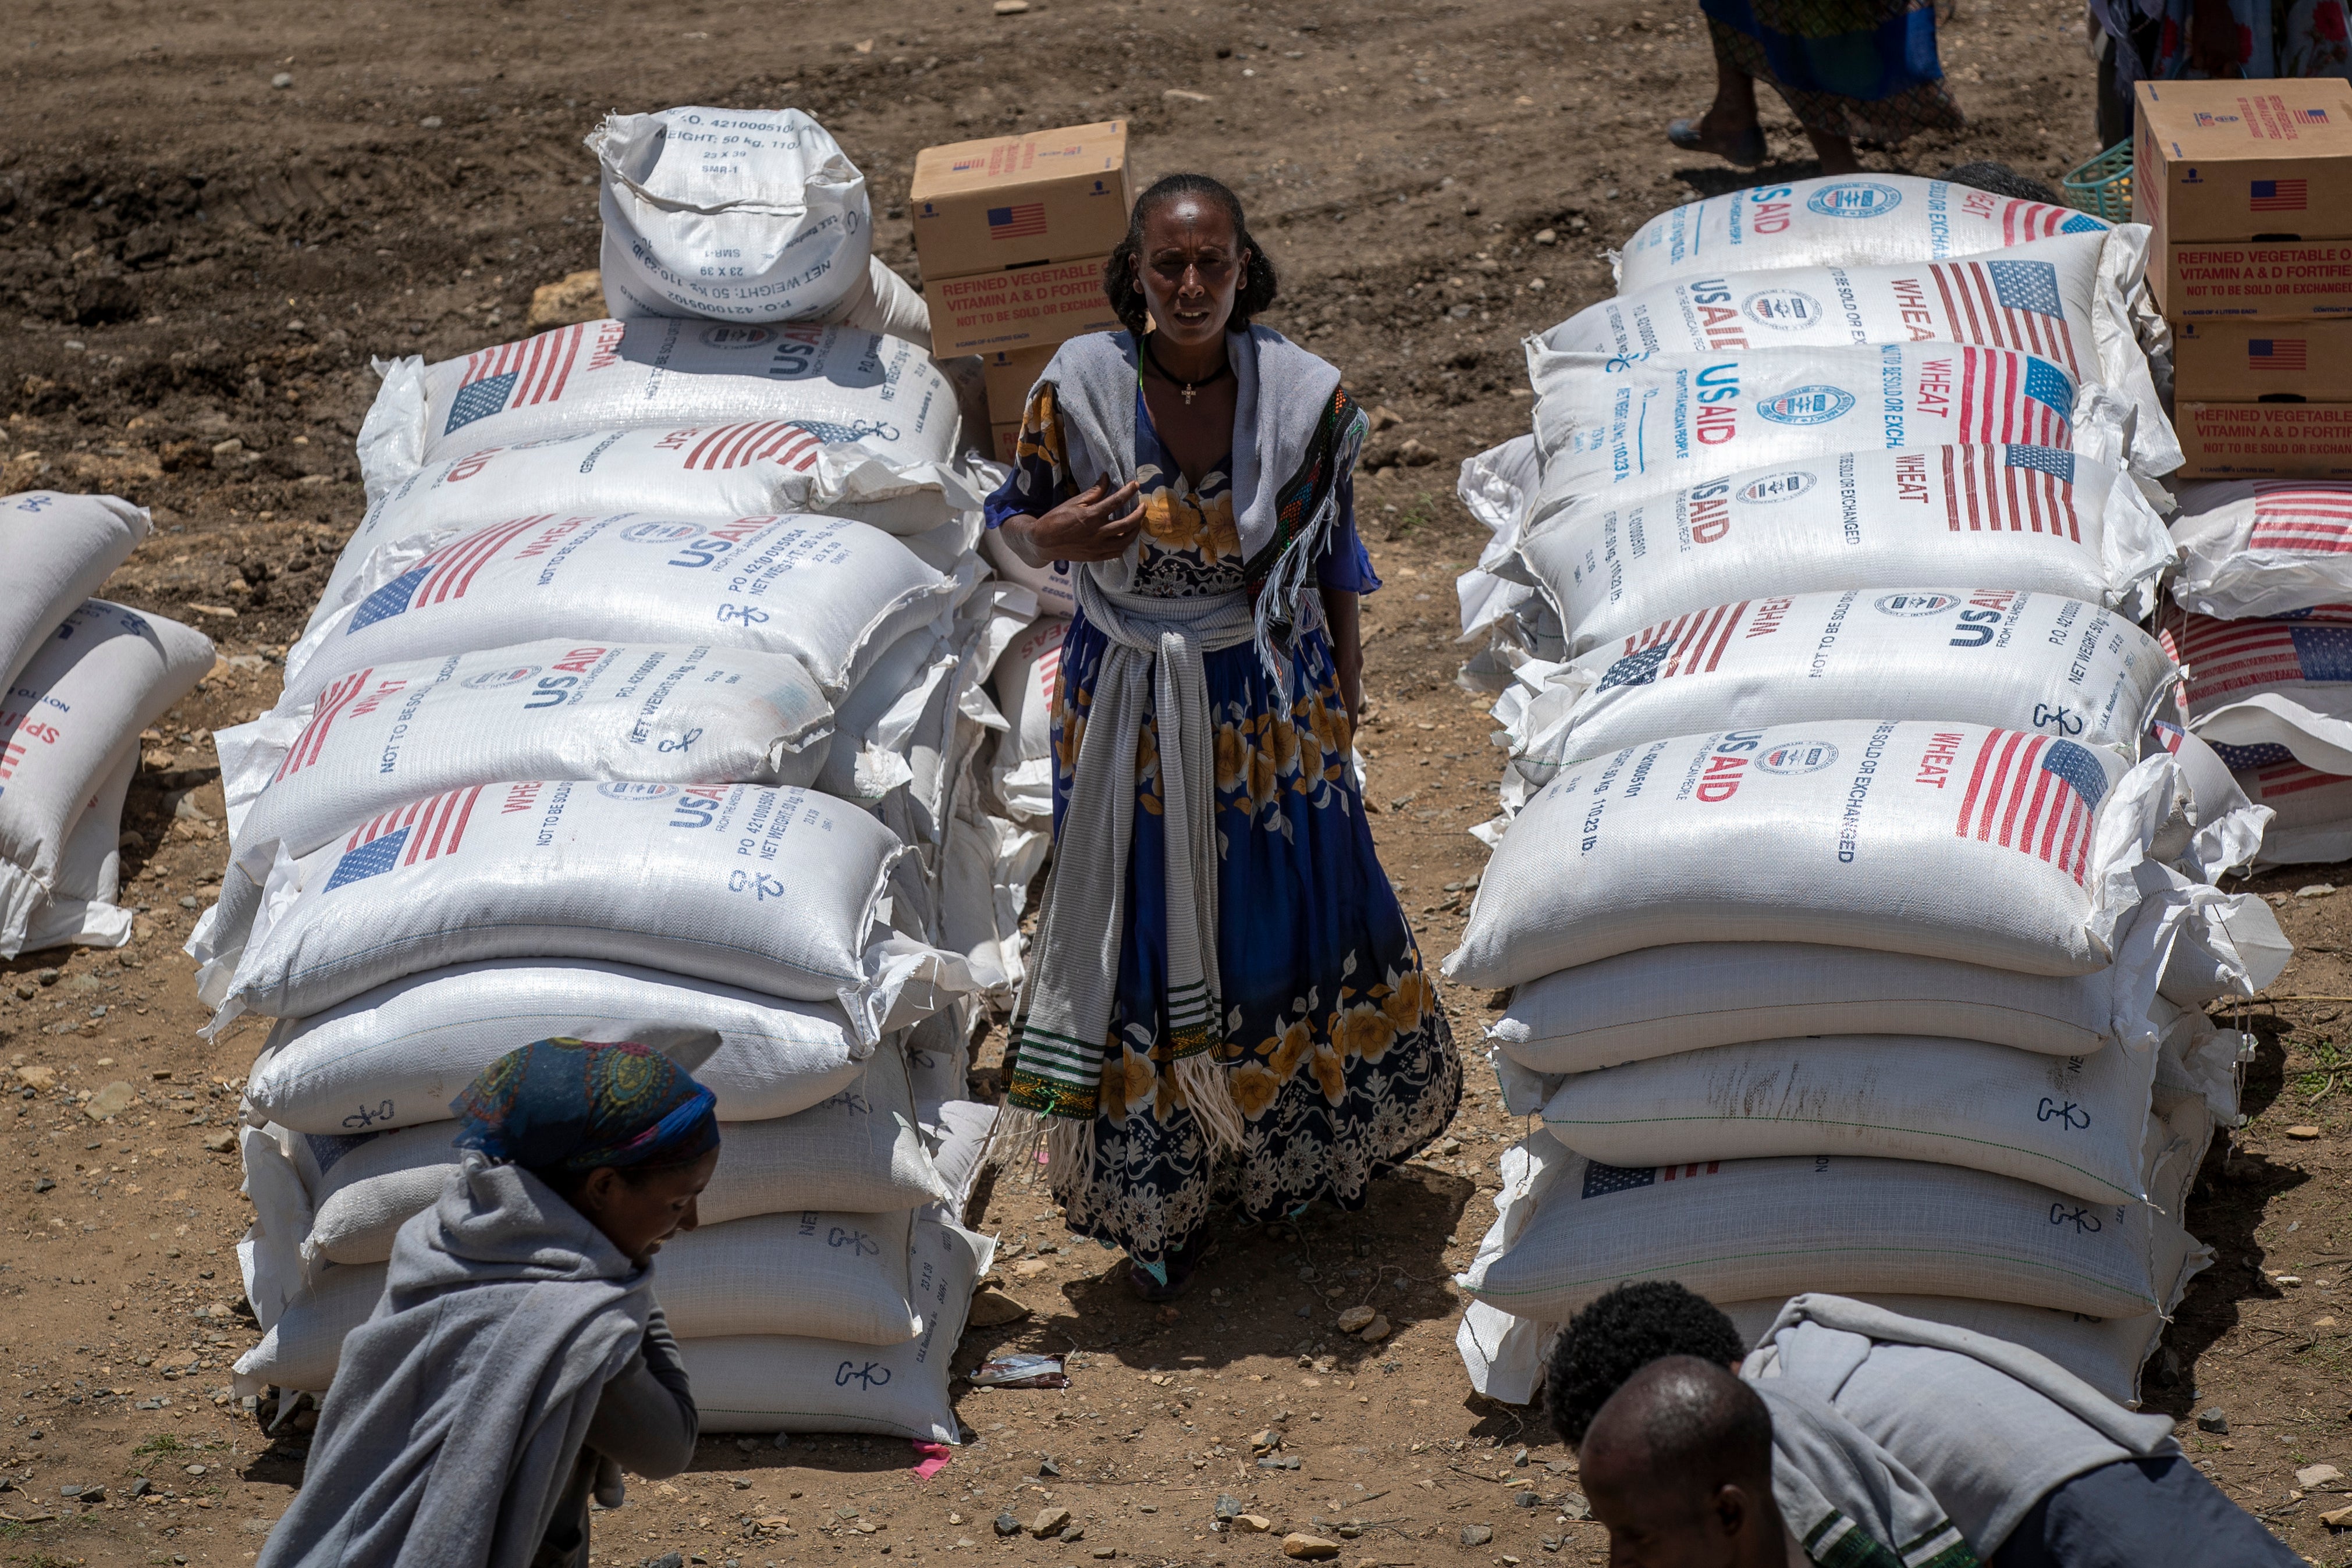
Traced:
[[866, 1072], [870, 1046], [833, 1001], [786, 1001], [626, 964], [496, 959], [393, 980], [270, 1030], [245, 1103], [296, 1133], [362, 1133], [449, 1117], [485, 1067], [534, 1039], [717, 1030], [694, 1067], [724, 1121], [790, 1117]]

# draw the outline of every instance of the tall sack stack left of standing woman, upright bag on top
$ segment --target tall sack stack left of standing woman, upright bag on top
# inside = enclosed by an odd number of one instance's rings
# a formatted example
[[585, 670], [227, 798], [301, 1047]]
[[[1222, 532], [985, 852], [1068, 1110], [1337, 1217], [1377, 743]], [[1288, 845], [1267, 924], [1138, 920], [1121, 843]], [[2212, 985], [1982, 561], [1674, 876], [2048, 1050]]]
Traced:
[[[240, 1392], [329, 1385], [485, 1065], [642, 1039], [724, 1133], [659, 1265], [703, 1427], [957, 1441], [993, 1248], [960, 1225], [964, 1037], [1021, 907], [971, 797], [1035, 595], [974, 552], [988, 475], [929, 353], [826, 320], [906, 299], [802, 287], [889, 277], [840, 148], [706, 108], [593, 143], [626, 320], [381, 364], [367, 517], [280, 705], [219, 736], [191, 952], [214, 1027], [275, 1020]], [[750, 282], [682, 282], [713, 249]]]

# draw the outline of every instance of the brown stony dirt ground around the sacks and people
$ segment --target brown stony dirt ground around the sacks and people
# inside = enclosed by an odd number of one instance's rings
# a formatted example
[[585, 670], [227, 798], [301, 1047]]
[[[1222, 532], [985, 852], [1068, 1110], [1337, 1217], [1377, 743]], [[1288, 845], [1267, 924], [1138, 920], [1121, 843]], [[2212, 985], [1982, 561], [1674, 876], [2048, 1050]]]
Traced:
[[[1376, 830], [1432, 954], [1461, 931], [1484, 858], [1465, 827], [1491, 813], [1496, 778], [1484, 701], [1454, 684], [1451, 578], [1482, 541], [1454, 463], [1524, 430], [1517, 341], [1606, 292], [1606, 244], [1672, 202], [1813, 172], [1776, 106], [1776, 162], [1752, 176], [1675, 153], [1663, 125], [1705, 106], [1710, 52], [1693, 9], [1635, 0], [1030, 0], [1021, 16], [985, 0], [19, 0], [9, 14], [0, 491], [151, 505], [158, 534], [108, 592], [223, 651], [148, 736], [127, 820], [141, 846], [125, 856], [136, 940], [0, 973], [14, 1098], [0, 1561], [33, 1568], [242, 1563], [301, 1479], [301, 1434], [273, 1439], [226, 1396], [256, 1338], [228, 1131], [259, 1030], [200, 1041], [179, 954], [226, 849], [209, 731], [270, 703], [275, 661], [360, 517], [350, 437], [369, 355], [522, 336], [534, 284], [595, 266], [579, 139], [600, 110], [816, 113], [866, 169], [910, 277], [898, 219], [927, 143], [1127, 115], [1145, 179], [1197, 167], [1242, 190], [1284, 280], [1272, 324], [1402, 414], [1385, 442], [1437, 458], [1359, 487], [1388, 578], [1367, 614]], [[1962, 0], [1943, 59], [1973, 129], [1872, 153], [1875, 167], [1999, 158], [2056, 179], [2096, 150], [2077, 5]], [[2340, 1500], [2303, 1497], [2293, 1472], [2352, 1469], [2352, 1338], [2331, 1309], [2352, 1262], [2347, 912], [2352, 893], [2284, 900], [2303, 957], [2246, 1013], [2263, 1041], [2253, 1119], [2187, 1215], [2218, 1258], [2150, 1380], [2154, 1408], [2227, 1413], [2227, 1436], [2183, 1422], [2183, 1441], [2324, 1563], [2352, 1563], [2317, 1519]], [[1449, 1001], [1475, 1048], [1491, 999]], [[136, 1098], [92, 1119], [111, 1084]], [[1486, 1074], [1472, 1084], [1489, 1086], [1451, 1138], [1364, 1213], [1235, 1237], [1171, 1309], [1136, 1305], [1115, 1258], [1077, 1246], [1040, 1190], [1000, 1187], [985, 1213], [1007, 1241], [1000, 1276], [1035, 1314], [967, 1335], [957, 1366], [1075, 1352], [1068, 1392], [967, 1392], [974, 1441], [929, 1481], [898, 1441], [708, 1441], [694, 1472], [597, 1519], [595, 1559], [1240, 1566], [1315, 1530], [1348, 1563], [1602, 1561], [1541, 1413], [1470, 1396], [1454, 1354], [1446, 1274], [1489, 1222], [1496, 1154], [1519, 1131]], [[1338, 1335], [1357, 1302], [1395, 1338]], [[1265, 1429], [1298, 1469], [1256, 1462]], [[1270, 1533], [1211, 1530], [1221, 1493]], [[1040, 1507], [1068, 1507], [1082, 1537], [993, 1530]]]

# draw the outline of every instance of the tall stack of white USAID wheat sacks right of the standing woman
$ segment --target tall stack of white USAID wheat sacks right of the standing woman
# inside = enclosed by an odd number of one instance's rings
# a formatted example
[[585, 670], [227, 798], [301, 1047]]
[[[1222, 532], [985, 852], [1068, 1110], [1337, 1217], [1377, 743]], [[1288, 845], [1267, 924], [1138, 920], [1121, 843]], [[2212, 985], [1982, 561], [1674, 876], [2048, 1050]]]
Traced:
[[1534, 435], [1463, 470], [1510, 762], [1446, 973], [1508, 990], [1494, 1060], [1543, 1117], [1461, 1274], [1482, 1392], [1679, 1279], [1752, 1331], [1849, 1293], [2136, 1396], [2237, 1119], [2201, 1006], [2284, 964], [2213, 886], [2267, 813], [2150, 738], [2145, 237], [1797, 181], [1651, 221], [1625, 294], [1529, 343]]

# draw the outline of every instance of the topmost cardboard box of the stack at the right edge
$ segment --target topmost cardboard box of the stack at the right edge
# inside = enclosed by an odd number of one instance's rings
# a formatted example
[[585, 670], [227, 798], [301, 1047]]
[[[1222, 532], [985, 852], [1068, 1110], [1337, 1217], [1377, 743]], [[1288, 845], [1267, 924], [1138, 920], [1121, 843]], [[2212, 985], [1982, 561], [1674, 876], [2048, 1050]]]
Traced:
[[2352, 82], [2140, 82], [2131, 219], [2185, 240], [2352, 237]]

